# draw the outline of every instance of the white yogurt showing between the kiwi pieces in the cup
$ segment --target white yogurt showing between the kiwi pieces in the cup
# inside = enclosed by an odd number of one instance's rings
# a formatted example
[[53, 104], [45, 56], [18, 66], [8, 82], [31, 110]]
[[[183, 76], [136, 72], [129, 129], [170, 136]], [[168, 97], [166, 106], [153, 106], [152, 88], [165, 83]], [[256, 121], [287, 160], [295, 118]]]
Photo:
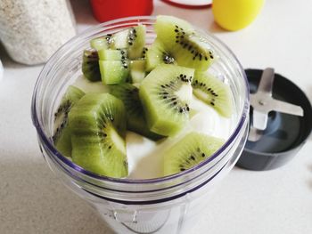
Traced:
[[[86, 93], [103, 93], [107, 89], [102, 83], [90, 83], [79, 77], [73, 84]], [[139, 134], [127, 133], [128, 178], [152, 179], [163, 175], [163, 152], [179, 141], [186, 133], [206, 133], [221, 139], [228, 139], [233, 130], [233, 120], [221, 117], [215, 109], [192, 96], [190, 108], [195, 112], [185, 129], [177, 136], [160, 141], [151, 141]]]

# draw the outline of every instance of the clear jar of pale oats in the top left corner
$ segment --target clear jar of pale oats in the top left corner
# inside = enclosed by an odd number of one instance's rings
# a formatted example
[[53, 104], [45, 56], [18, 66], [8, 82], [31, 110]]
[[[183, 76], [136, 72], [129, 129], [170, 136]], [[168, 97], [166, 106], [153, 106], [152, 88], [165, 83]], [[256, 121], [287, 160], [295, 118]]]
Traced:
[[75, 35], [68, 0], [0, 0], [0, 40], [14, 61], [44, 63]]

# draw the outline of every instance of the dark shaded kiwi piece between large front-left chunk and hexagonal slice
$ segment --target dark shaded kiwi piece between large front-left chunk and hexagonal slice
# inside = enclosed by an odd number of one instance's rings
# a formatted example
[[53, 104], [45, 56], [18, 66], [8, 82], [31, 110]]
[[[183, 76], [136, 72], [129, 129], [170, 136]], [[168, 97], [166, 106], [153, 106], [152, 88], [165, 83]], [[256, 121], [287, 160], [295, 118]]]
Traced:
[[139, 89], [131, 84], [111, 85], [110, 93], [123, 101], [127, 112], [127, 129], [139, 133], [153, 141], [162, 136], [152, 133], [147, 127], [144, 110], [139, 98]]

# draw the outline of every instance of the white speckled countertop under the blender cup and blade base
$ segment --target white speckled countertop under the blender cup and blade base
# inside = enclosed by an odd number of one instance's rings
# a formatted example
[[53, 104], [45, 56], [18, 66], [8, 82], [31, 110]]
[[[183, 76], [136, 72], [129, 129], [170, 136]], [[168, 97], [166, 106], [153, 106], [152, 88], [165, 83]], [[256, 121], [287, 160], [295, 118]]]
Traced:
[[[273, 67], [312, 101], [311, 9], [310, 0], [267, 1], [258, 19], [238, 32], [218, 28], [211, 9], [185, 10], [155, 0], [153, 14], [172, 14], [210, 30], [244, 68]], [[96, 24], [87, 0], [75, 1], [74, 12], [79, 31]], [[38, 149], [30, 101], [42, 66], [17, 64], [3, 49], [0, 59], [0, 233], [111, 233], [55, 179]], [[297, 157], [275, 171], [234, 168], [211, 196], [193, 233], [312, 233], [311, 152], [310, 136]]]

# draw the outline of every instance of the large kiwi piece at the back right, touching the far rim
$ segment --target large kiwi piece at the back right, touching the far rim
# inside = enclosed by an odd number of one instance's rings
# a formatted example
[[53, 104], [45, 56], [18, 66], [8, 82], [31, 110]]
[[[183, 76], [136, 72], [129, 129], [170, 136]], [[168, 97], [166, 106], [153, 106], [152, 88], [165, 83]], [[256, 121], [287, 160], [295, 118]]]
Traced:
[[160, 63], [177, 63], [187, 68], [207, 70], [215, 58], [209, 43], [198, 36], [185, 20], [160, 15], [155, 30], [156, 44], [147, 52], [148, 70]]

